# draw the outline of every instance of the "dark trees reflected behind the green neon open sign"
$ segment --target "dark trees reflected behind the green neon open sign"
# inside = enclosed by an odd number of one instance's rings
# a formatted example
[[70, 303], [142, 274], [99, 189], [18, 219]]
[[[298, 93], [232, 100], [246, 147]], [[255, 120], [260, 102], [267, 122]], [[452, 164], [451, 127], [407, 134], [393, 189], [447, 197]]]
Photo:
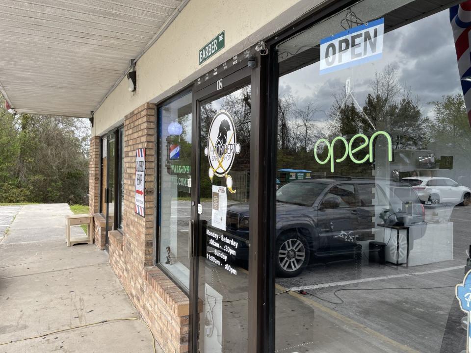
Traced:
[[[299, 107], [293, 96], [280, 97], [278, 101], [278, 158], [280, 168], [309, 169], [312, 171], [330, 171], [329, 165], [319, 165], [313, 158], [314, 143], [320, 138], [332, 140], [343, 136], [347, 141], [358, 133], [370, 136], [375, 130], [385, 130], [392, 138], [392, 148], [424, 149], [429, 136], [429, 119], [424, 117], [419, 106], [419, 99], [411, 90], [398, 82], [398, 67], [392, 63], [382, 72], [376, 72], [369, 83], [369, 92], [361, 106], [355, 99], [355, 93], [346, 92], [343, 87], [333, 94], [333, 104], [327, 113], [325, 127], [314, 123], [314, 113], [318, 111], [313, 102]], [[356, 140], [353, 148], [361, 144]], [[317, 151], [320, 159], [325, 159], [327, 150], [320, 146]], [[362, 158], [367, 150], [359, 151]], [[340, 158], [343, 151], [334, 149], [334, 156]], [[336, 167], [335, 174], [365, 175], [372, 166], [351, 163], [349, 159]]]

